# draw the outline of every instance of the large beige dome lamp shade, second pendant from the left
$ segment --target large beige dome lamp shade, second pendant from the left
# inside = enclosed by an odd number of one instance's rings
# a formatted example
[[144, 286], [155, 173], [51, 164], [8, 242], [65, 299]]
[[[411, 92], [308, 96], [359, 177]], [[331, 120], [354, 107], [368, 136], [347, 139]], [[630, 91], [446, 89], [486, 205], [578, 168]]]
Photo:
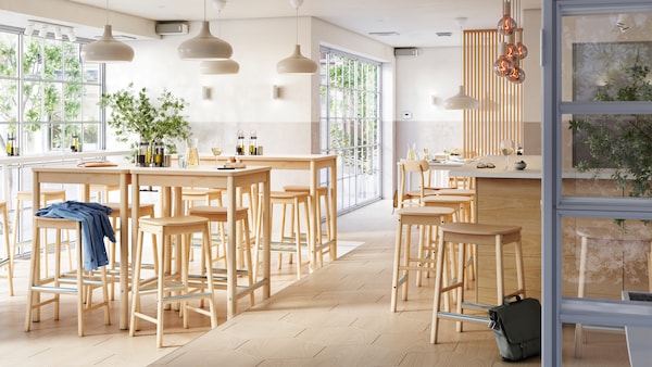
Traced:
[[195, 38], [178, 47], [181, 60], [224, 60], [234, 53], [231, 46], [211, 34], [208, 21], [201, 24], [201, 30]]

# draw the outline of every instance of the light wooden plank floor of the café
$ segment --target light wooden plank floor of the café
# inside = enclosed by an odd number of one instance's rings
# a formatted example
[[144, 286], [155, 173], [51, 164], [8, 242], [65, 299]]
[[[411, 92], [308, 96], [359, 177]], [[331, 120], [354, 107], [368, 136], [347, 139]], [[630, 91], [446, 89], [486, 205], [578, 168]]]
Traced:
[[[273, 296], [226, 321], [220, 302], [218, 324], [192, 315], [189, 329], [178, 317], [166, 318], [166, 347], [155, 347], [154, 327], [141, 322], [138, 337], [113, 324], [101, 311], [87, 318], [78, 338], [72, 298], [62, 317], [45, 312], [33, 331], [23, 330], [28, 261], [16, 265], [15, 293], [7, 295], [0, 279], [1, 366], [511, 366], [502, 362], [493, 334], [484, 325], [441, 321], [440, 344], [429, 343], [431, 279], [411, 284], [411, 299], [389, 312], [396, 217], [383, 201], [338, 220], [341, 257], [296, 280], [292, 266], [273, 267]], [[346, 253], [347, 251], [350, 251]], [[344, 254], [346, 253], [346, 254]], [[274, 256], [276, 257], [276, 256]], [[260, 299], [260, 295], [259, 295]], [[248, 307], [246, 301], [242, 307]], [[151, 305], [150, 305], [151, 306]], [[573, 328], [564, 329], [564, 366], [627, 366], [625, 336], [587, 331], [585, 356], [573, 357]], [[540, 365], [530, 358], [523, 365]], [[521, 364], [519, 364], [521, 365]]]

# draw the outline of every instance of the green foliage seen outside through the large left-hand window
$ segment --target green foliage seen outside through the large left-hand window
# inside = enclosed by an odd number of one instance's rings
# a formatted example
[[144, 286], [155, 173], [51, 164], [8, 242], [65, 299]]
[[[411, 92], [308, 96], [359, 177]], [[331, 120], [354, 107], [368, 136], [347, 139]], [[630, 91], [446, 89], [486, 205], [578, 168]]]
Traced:
[[[21, 122], [20, 132], [26, 135], [47, 126], [46, 137], [53, 150], [67, 147], [66, 139], [72, 135], [96, 143], [98, 122], [85, 124], [82, 130], [84, 75], [79, 45], [38, 37], [23, 40], [20, 65], [17, 35], [0, 34], [0, 121], [10, 123], [7, 131], [18, 132]], [[21, 80], [23, 93], [18, 96]], [[4, 144], [4, 137], [0, 141]]]

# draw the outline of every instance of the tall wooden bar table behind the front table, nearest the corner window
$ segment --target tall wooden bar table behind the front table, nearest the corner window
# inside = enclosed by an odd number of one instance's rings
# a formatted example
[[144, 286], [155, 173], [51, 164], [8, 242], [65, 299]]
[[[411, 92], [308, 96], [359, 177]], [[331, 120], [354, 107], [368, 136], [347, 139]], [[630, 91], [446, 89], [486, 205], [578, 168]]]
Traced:
[[[316, 205], [310, 205], [310, 232], [311, 238], [309, 241], [314, 243], [312, 246], [314, 251], [311, 251], [310, 257], [310, 270], [314, 271], [317, 265], [317, 252], [322, 251], [322, 248], [330, 248], [330, 258], [337, 256], [337, 154], [300, 154], [300, 155], [238, 155], [237, 159], [244, 164], [255, 164], [262, 166], [269, 166], [272, 169], [292, 169], [292, 170], [308, 170], [310, 174], [310, 195], [311, 202], [316, 203], [319, 200], [317, 188], [319, 186], [319, 172], [322, 169], [329, 169], [329, 190], [330, 190], [330, 202], [329, 208], [331, 213], [330, 220], [330, 233], [333, 238], [328, 242], [322, 242], [315, 236], [316, 226], [322, 222], [321, 213], [317, 213]], [[218, 156], [218, 159], [226, 159], [226, 156]], [[202, 156], [201, 162], [214, 165], [214, 156]], [[222, 164], [224, 162], [221, 162]]]

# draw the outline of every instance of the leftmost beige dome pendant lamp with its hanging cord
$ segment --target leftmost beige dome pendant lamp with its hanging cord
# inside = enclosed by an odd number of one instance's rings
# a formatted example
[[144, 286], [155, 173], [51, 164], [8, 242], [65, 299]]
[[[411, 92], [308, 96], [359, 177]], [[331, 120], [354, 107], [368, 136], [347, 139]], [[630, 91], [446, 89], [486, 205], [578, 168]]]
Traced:
[[84, 62], [117, 63], [134, 60], [134, 49], [113, 38], [112, 27], [109, 24], [109, 0], [106, 0], [106, 21], [102, 37], [95, 42], [82, 47]]

